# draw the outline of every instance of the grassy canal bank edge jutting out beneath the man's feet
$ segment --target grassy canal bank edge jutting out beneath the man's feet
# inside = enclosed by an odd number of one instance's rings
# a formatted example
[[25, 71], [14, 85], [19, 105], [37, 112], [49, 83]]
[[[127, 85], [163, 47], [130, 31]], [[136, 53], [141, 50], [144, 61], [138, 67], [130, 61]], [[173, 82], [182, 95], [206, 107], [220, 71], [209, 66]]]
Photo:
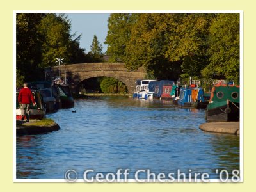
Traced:
[[26, 122], [24, 124], [16, 124], [16, 135], [26, 134], [43, 134], [52, 131], [58, 131], [60, 126], [56, 122], [52, 121], [52, 124], [48, 125], [35, 125], [35, 122]]

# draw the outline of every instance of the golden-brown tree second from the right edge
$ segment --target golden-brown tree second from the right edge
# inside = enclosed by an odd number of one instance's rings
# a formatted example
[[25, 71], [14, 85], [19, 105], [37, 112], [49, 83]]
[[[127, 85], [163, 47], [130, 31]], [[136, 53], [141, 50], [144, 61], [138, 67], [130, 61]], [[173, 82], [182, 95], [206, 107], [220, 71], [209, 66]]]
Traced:
[[200, 76], [200, 70], [208, 65], [209, 26], [213, 17], [213, 14], [180, 14], [177, 19], [166, 56], [170, 61], [180, 61], [180, 77]]

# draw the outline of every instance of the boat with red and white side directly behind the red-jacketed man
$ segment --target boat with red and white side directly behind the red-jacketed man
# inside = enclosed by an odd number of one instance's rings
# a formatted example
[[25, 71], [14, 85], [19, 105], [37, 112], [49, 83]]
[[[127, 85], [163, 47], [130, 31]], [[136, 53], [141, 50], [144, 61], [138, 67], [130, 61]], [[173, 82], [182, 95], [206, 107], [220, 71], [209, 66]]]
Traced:
[[[16, 120], [21, 120], [21, 109], [18, 101], [18, 96], [19, 96], [20, 90], [16, 91]], [[45, 104], [42, 100], [41, 94], [39, 90], [31, 90], [32, 94], [34, 95], [34, 99], [36, 102], [36, 105], [33, 106], [31, 104], [31, 109], [30, 109], [30, 119], [43, 119], [45, 118], [46, 115], [46, 108]]]

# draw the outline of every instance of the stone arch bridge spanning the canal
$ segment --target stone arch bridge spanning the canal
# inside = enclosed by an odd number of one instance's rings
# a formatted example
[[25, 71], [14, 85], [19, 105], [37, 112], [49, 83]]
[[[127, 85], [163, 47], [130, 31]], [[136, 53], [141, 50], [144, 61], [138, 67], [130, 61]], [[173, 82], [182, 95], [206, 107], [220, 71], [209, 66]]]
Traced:
[[[113, 77], [122, 81], [129, 93], [134, 91], [137, 79], [145, 78], [145, 69], [138, 68], [136, 71], [129, 71], [124, 63], [79, 63], [72, 65], [60, 65], [60, 76], [66, 77], [71, 85], [72, 92], [77, 92], [77, 85], [92, 77]], [[59, 66], [51, 67], [51, 76], [58, 76]]]

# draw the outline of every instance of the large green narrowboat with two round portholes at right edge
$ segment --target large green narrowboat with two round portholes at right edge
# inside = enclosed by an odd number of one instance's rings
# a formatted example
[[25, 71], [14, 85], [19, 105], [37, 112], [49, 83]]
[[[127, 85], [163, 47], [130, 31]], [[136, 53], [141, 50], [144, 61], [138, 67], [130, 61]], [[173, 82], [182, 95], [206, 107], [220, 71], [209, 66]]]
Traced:
[[206, 121], [239, 121], [239, 99], [239, 86], [229, 84], [215, 85], [211, 90], [211, 97], [205, 112]]

